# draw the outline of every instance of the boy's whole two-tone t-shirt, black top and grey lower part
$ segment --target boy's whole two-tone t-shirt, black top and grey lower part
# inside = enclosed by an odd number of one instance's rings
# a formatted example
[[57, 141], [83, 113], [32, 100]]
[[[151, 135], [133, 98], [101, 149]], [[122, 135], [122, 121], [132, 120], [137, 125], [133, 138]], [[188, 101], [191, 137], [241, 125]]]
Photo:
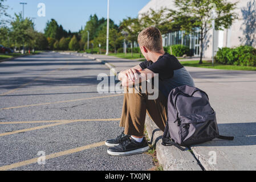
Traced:
[[160, 56], [155, 63], [145, 60], [140, 63], [140, 67], [141, 69], [147, 68], [154, 73], [158, 73], [159, 90], [166, 97], [168, 97], [170, 91], [177, 86], [195, 86], [189, 72], [186, 71], [175, 56], [169, 55], [169, 53]]

